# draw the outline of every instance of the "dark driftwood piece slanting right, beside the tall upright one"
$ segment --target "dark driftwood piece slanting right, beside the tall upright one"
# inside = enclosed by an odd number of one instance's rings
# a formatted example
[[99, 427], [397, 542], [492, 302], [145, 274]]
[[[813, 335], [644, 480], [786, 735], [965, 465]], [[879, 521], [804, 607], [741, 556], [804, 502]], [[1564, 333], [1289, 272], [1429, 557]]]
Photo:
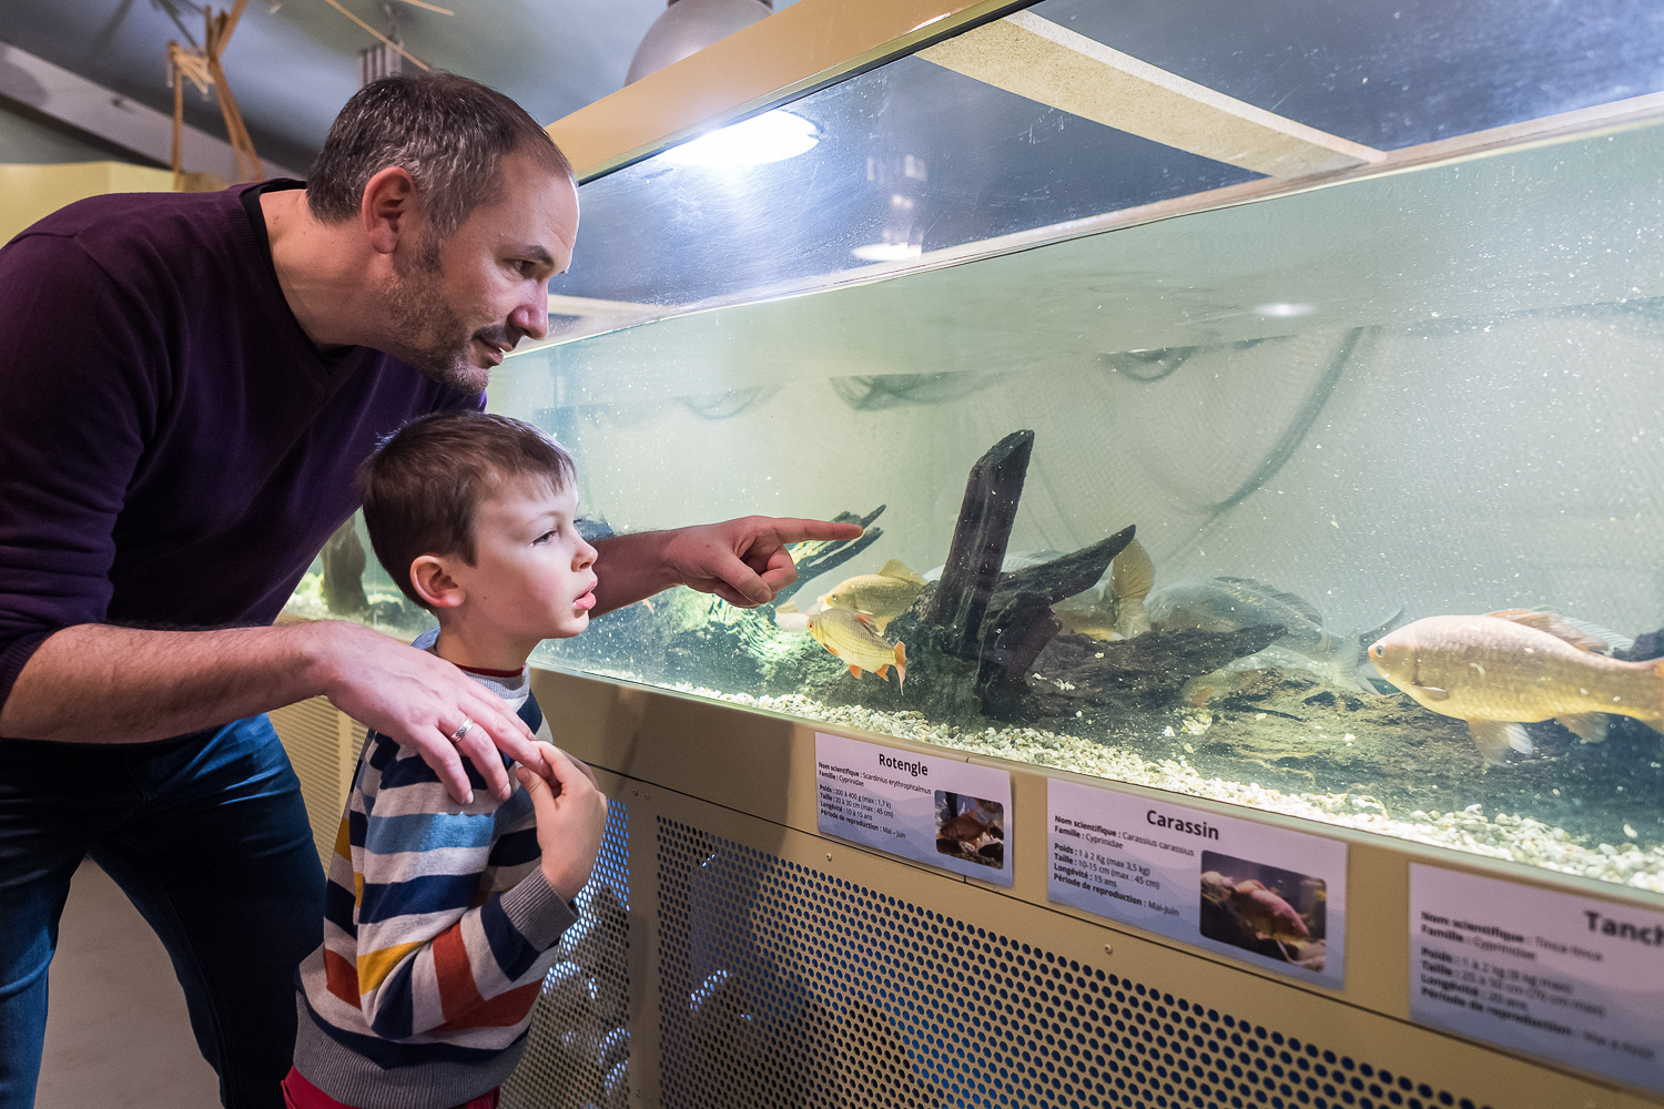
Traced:
[[1128, 525], [1075, 554], [1002, 574], [982, 625], [977, 693], [987, 698], [993, 690], [1025, 688], [1023, 675], [1063, 627], [1052, 605], [1092, 589], [1132, 540]]

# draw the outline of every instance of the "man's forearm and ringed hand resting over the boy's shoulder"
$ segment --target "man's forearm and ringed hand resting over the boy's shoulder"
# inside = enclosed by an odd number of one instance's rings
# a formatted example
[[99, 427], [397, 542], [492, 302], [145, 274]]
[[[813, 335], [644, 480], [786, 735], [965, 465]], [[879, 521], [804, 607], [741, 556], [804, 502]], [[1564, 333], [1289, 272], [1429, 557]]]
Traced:
[[[421, 750], [459, 800], [469, 796], [459, 755], [498, 796], [513, 786], [494, 748], [539, 765], [531, 732], [499, 697], [443, 658], [336, 620], [218, 632], [67, 627], [23, 663], [0, 705], [0, 735], [145, 743], [319, 695]], [[478, 727], [451, 743], [464, 718]]]

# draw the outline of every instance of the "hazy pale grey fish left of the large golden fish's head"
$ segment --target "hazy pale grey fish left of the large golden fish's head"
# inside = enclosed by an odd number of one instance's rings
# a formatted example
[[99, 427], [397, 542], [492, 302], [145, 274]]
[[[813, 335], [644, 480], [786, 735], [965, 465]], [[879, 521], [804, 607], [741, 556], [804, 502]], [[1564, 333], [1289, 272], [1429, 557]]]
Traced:
[[1248, 577], [1186, 579], [1163, 585], [1145, 602], [1150, 624], [1158, 632], [1241, 632], [1276, 624], [1283, 633], [1271, 640], [1311, 660], [1311, 672], [1331, 685], [1374, 695], [1358, 677], [1363, 645], [1354, 635], [1330, 635], [1323, 615], [1310, 602]]

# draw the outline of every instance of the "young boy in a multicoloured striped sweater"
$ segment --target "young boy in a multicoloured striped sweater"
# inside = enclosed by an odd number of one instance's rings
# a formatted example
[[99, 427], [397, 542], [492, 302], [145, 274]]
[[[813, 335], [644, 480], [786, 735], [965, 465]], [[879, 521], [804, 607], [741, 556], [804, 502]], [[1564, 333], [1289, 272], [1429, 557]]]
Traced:
[[596, 549], [571, 457], [521, 421], [426, 416], [359, 484], [376, 555], [439, 619], [414, 647], [503, 697], [544, 765], [516, 766], [522, 788], [501, 803], [468, 766], [474, 795], [456, 805], [414, 748], [369, 733], [283, 1092], [291, 1109], [493, 1109], [606, 826], [587, 770], [547, 743], [526, 668], [539, 640], [587, 627]]

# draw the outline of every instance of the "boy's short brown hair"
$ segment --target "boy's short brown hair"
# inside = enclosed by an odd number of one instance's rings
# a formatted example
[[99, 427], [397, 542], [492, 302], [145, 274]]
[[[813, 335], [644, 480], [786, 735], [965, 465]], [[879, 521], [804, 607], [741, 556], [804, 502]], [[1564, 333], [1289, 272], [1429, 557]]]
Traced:
[[406, 597], [429, 609], [411, 585], [411, 562], [424, 554], [474, 564], [474, 507], [506, 477], [546, 477], [561, 492], [577, 469], [537, 427], [486, 412], [413, 419], [364, 459], [358, 490], [369, 544]]

